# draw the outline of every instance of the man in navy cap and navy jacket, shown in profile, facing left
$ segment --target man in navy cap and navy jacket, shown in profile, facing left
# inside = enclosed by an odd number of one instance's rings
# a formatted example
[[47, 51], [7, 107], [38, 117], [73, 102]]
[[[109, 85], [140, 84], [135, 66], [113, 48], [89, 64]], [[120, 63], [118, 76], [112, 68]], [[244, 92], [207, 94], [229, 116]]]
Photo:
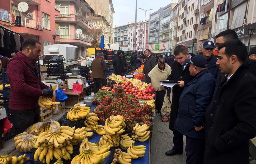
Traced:
[[186, 163], [202, 164], [205, 150], [205, 112], [212, 100], [215, 78], [207, 69], [207, 59], [196, 55], [185, 59], [194, 77], [184, 86], [174, 129], [186, 136]]

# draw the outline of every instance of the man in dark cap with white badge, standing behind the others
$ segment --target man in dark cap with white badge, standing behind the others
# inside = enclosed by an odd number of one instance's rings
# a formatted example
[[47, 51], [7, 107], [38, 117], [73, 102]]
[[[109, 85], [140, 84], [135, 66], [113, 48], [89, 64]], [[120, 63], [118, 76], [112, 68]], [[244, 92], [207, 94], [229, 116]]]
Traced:
[[216, 65], [217, 59], [213, 56], [212, 52], [214, 49], [214, 43], [212, 41], [205, 41], [203, 47], [201, 48], [203, 57], [207, 59], [208, 69], [212, 76], [217, 80], [219, 67]]

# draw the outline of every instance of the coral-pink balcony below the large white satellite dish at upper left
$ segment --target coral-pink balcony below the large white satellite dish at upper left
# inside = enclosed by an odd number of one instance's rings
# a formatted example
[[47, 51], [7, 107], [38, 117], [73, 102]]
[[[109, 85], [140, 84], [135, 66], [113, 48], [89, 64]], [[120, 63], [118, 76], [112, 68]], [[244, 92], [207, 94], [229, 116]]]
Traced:
[[42, 22], [27, 17], [21, 17], [21, 26], [12, 26], [12, 30], [21, 34], [26, 35], [37, 35], [41, 36], [43, 34]]

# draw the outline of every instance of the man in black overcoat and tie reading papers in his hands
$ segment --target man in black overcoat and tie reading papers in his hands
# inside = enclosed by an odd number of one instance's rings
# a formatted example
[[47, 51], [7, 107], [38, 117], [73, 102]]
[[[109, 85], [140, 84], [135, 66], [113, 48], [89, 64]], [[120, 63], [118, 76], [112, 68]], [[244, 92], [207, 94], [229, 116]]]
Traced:
[[193, 79], [193, 76], [189, 73], [189, 64], [185, 62], [185, 59], [191, 59], [195, 56], [189, 54], [188, 49], [182, 45], [175, 47], [173, 54], [176, 60], [172, 62], [172, 72], [167, 80], [176, 80], [179, 81], [179, 83], [172, 88], [172, 106], [169, 129], [173, 132], [174, 146], [172, 150], [165, 152], [165, 155], [168, 156], [183, 154], [183, 135], [174, 129], [174, 124], [179, 109], [179, 98], [184, 89], [184, 85]]

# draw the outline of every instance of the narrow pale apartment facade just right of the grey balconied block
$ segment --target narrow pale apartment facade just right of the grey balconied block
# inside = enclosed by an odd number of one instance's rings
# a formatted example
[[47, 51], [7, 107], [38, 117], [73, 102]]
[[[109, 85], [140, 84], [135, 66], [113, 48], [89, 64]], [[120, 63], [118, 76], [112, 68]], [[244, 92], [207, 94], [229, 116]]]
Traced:
[[173, 52], [175, 45], [177, 43], [178, 14], [179, 14], [179, 8], [178, 8], [178, 5], [176, 5], [171, 11], [170, 25], [169, 25], [170, 29], [169, 29], [168, 50], [171, 52]]

